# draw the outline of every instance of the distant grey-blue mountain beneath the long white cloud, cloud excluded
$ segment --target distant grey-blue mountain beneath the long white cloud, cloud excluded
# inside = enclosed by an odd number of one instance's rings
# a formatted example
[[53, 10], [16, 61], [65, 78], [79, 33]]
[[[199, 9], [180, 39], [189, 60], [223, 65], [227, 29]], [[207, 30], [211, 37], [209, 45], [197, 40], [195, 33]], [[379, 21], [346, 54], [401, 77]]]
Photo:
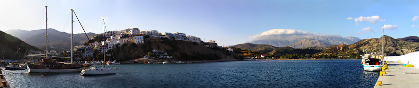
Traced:
[[358, 37], [347, 37], [341, 36], [317, 36], [312, 34], [285, 34], [285, 35], [268, 35], [261, 36], [249, 43], [252, 44], [269, 44], [273, 46], [291, 46], [293, 48], [305, 48], [311, 46], [326, 47], [333, 44], [353, 44], [360, 39]]

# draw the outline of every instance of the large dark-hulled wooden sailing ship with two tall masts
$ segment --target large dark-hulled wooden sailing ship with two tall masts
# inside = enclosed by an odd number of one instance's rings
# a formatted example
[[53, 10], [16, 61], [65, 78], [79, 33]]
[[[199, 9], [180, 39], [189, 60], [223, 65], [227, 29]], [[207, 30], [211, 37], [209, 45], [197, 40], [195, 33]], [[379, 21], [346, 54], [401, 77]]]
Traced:
[[[45, 54], [29, 54], [29, 57], [45, 57], [40, 61], [28, 62], [26, 67], [29, 73], [60, 73], [60, 72], [78, 72], [85, 67], [90, 67], [91, 64], [75, 64], [73, 63], [73, 50], [71, 50], [71, 57], [58, 57], [58, 56], [48, 56], [48, 24], [47, 24], [47, 7], [45, 6]], [[71, 14], [73, 11], [71, 12]], [[71, 15], [71, 17], [73, 17]], [[73, 19], [71, 19], [71, 49], [73, 41]], [[50, 57], [56, 58], [71, 58], [71, 63], [57, 62], [56, 59], [51, 59]]]

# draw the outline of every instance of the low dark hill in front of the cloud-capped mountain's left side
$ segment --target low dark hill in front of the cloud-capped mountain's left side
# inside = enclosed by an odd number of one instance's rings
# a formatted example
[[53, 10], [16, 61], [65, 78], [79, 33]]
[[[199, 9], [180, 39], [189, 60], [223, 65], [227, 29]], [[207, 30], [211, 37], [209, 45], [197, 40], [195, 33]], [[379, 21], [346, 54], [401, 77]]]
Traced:
[[290, 46], [283, 46], [283, 47], [275, 47], [268, 44], [237, 44], [231, 47], [240, 48], [240, 49], [247, 49], [251, 51], [257, 51], [262, 53], [268, 53], [273, 55], [285, 55], [285, 54], [314, 54], [317, 52], [322, 51], [321, 49], [314, 49], [314, 48], [292, 48]]

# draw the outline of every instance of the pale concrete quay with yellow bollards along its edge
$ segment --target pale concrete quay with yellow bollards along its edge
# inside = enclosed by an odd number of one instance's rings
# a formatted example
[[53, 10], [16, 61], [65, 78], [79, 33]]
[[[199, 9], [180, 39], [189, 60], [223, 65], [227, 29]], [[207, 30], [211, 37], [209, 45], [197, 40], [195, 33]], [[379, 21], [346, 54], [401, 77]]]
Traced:
[[416, 67], [403, 67], [403, 63], [390, 61], [386, 74], [379, 77], [381, 86], [374, 88], [418, 88], [419, 87], [419, 69]]

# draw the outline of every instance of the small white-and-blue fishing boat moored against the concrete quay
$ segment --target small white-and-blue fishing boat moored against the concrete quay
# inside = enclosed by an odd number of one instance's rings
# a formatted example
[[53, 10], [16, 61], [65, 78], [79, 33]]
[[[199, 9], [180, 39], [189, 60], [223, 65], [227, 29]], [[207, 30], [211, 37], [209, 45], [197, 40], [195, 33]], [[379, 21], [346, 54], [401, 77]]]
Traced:
[[[381, 68], [384, 65], [384, 25], [383, 25], [383, 47], [382, 47], [382, 55], [377, 54], [377, 52], [370, 54], [365, 54], [362, 56], [361, 64], [364, 66], [364, 71], [381, 71]], [[365, 51], [365, 50], [364, 50]]]

